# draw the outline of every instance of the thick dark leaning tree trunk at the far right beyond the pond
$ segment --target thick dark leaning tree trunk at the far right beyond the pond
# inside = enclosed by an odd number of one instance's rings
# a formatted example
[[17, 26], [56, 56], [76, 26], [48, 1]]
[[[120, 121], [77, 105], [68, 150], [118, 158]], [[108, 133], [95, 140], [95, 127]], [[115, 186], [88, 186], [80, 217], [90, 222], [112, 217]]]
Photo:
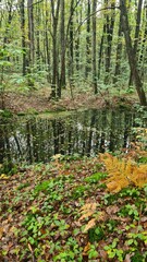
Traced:
[[133, 74], [133, 79], [135, 82], [136, 91], [139, 97], [140, 105], [147, 106], [146, 95], [143, 88], [143, 83], [140, 81], [140, 76], [137, 70], [137, 62], [136, 57], [134, 53], [134, 48], [132, 46], [132, 39], [130, 35], [130, 25], [128, 25], [128, 17], [127, 17], [127, 10], [126, 10], [126, 2], [125, 0], [120, 0], [120, 8], [122, 12], [122, 19], [123, 19], [123, 32], [125, 36], [125, 44], [126, 44], [126, 50], [128, 56], [128, 63], [131, 67], [131, 71]]

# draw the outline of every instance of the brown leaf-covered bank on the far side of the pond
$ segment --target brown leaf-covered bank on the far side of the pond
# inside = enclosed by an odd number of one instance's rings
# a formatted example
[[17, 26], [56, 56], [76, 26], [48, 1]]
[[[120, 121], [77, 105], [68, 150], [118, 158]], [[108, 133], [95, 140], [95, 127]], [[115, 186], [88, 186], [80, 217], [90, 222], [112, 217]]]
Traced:
[[138, 103], [135, 94], [111, 95], [109, 92], [103, 92], [98, 95], [91, 95], [91, 92], [74, 91], [71, 96], [70, 91], [63, 91], [62, 99], [49, 99], [49, 90], [35, 90], [34, 92], [19, 93], [7, 92], [4, 95], [4, 106], [12, 112], [46, 112], [60, 110], [74, 110], [78, 108], [102, 108], [117, 106], [132, 106]]

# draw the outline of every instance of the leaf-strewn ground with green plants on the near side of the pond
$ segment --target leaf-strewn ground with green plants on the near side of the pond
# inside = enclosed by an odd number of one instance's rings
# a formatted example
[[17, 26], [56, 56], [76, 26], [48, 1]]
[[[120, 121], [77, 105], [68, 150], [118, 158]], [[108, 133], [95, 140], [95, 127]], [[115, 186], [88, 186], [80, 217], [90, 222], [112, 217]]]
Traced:
[[[1, 174], [0, 261], [147, 261], [147, 152], [142, 153], [130, 152], [139, 160], [134, 167], [111, 155], [109, 165], [99, 157], [56, 155], [46, 165]], [[131, 170], [142, 187], [126, 178]]]

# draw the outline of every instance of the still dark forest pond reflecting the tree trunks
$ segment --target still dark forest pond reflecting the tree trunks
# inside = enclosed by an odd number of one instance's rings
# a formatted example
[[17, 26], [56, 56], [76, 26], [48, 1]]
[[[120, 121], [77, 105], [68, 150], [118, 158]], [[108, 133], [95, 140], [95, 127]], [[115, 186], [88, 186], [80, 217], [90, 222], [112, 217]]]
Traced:
[[47, 163], [54, 154], [95, 156], [127, 150], [136, 117], [106, 109], [19, 117], [0, 124], [0, 163]]

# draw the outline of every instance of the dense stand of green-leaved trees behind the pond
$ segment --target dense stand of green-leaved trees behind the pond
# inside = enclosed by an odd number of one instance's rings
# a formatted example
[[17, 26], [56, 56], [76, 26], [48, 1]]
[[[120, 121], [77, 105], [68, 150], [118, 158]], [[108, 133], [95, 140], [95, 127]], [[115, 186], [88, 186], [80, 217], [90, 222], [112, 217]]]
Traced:
[[12, 85], [48, 86], [51, 99], [65, 87], [99, 95], [135, 88], [146, 106], [146, 0], [1, 0], [0, 7], [1, 99]]

